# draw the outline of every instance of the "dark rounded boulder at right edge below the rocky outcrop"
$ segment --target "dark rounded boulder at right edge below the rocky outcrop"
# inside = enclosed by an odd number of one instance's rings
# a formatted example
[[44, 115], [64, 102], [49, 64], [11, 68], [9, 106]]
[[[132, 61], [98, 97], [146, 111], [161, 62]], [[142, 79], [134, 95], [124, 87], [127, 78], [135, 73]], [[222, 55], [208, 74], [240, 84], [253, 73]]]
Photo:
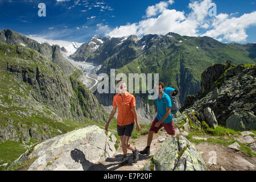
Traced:
[[234, 113], [226, 120], [226, 127], [236, 131], [256, 130], [256, 117], [246, 111]]

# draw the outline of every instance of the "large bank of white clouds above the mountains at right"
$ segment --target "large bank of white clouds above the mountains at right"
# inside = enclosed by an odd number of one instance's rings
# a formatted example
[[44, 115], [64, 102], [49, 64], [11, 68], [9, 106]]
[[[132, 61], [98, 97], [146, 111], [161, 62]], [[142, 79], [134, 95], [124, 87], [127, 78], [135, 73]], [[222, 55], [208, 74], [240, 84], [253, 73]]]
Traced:
[[[125, 26], [115, 27], [112, 31], [105, 33], [110, 37], [122, 37], [129, 35], [160, 34], [175, 32], [187, 36], [210, 36], [216, 40], [229, 40], [234, 42], [245, 42], [246, 28], [256, 25], [256, 12], [233, 17], [237, 13], [224, 14], [210, 17], [209, 10], [212, 0], [192, 1], [188, 7], [191, 13], [184, 11], [169, 10], [169, 4], [174, 1], [162, 1], [146, 9], [146, 18], [138, 23], [127, 23]], [[200, 28], [204, 28], [200, 30]], [[108, 27], [109, 29], [109, 27]], [[200, 32], [199, 32], [200, 30]]]

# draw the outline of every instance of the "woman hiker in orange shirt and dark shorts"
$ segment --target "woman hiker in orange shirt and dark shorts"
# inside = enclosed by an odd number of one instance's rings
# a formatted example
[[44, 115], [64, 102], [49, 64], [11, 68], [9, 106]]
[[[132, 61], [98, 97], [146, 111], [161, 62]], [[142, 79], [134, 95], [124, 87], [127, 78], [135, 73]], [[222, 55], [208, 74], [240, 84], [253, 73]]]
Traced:
[[133, 151], [133, 162], [137, 162], [139, 159], [139, 151], [128, 142], [131, 133], [133, 133], [134, 120], [136, 121], [137, 131], [141, 130], [141, 126], [139, 126], [138, 122], [135, 97], [126, 91], [126, 84], [124, 81], [119, 80], [117, 82], [117, 90], [119, 90], [119, 94], [116, 94], [113, 98], [113, 109], [109, 120], [106, 123], [105, 130], [108, 131], [109, 123], [118, 108], [117, 133], [122, 142], [123, 159], [121, 164], [123, 165], [128, 163], [127, 149]]

